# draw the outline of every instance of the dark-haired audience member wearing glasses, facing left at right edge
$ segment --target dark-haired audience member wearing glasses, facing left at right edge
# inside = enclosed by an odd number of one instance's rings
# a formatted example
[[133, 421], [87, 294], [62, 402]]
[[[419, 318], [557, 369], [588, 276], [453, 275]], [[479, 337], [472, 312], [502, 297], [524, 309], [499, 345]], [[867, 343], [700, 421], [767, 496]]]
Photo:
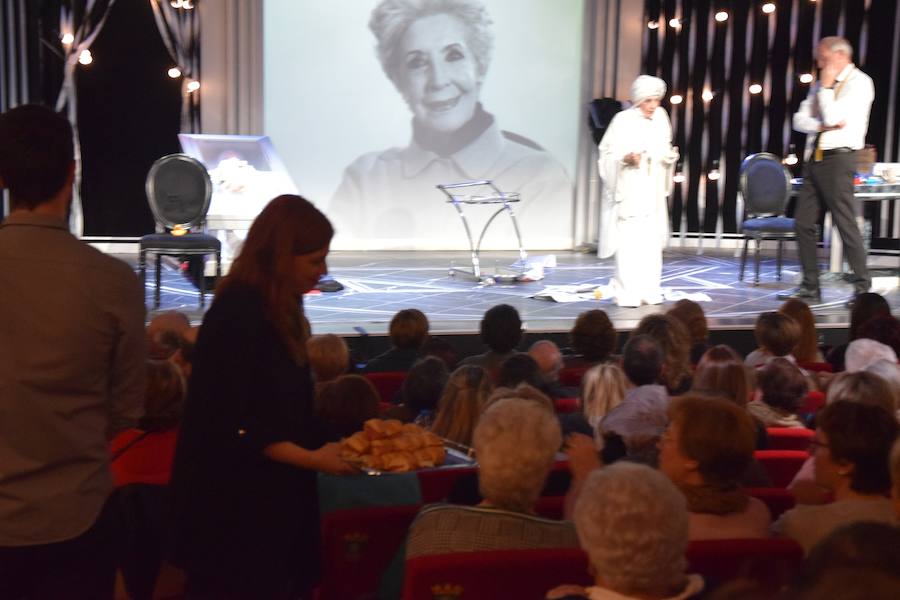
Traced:
[[897, 420], [880, 406], [839, 400], [816, 416], [815, 481], [834, 495], [821, 506], [797, 506], [773, 525], [806, 553], [841, 525], [857, 521], [890, 523], [893, 506], [885, 495], [891, 480], [888, 455], [897, 438]]

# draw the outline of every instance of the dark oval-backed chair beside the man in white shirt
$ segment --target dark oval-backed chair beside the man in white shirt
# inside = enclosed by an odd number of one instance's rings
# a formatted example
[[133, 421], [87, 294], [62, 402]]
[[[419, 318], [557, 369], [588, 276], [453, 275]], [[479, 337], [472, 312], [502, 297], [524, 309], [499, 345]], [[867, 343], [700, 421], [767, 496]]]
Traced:
[[759, 285], [759, 251], [763, 240], [777, 240], [775, 278], [781, 281], [781, 263], [785, 240], [794, 239], [794, 219], [784, 216], [791, 190], [791, 175], [781, 159], [769, 152], [751, 154], [741, 163], [741, 195], [744, 197], [746, 218], [741, 224], [744, 251], [741, 253], [740, 281], [744, 280], [747, 249], [750, 240], [756, 242], [754, 253], [756, 275], [753, 285]]

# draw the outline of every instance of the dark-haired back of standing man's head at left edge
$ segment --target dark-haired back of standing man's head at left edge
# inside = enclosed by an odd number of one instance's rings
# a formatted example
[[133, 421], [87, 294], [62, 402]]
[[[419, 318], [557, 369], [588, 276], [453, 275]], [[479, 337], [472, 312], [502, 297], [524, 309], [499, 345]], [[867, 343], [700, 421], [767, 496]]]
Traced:
[[72, 126], [59, 113], [26, 104], [0, 115], [0, 185], [13, 208], [32, 210], [53, 198], [73, 157]]

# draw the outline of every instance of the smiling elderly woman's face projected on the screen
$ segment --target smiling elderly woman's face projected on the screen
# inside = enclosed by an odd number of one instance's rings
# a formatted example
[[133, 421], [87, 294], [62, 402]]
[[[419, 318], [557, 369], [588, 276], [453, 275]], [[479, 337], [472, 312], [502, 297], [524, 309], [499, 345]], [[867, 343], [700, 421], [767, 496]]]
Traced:
[[455, 131], [475, 113], [481, 77], [466, 25], [446, 14], [413, 22], [400, 41], [400, 87], [413, 115], [435, 131]]

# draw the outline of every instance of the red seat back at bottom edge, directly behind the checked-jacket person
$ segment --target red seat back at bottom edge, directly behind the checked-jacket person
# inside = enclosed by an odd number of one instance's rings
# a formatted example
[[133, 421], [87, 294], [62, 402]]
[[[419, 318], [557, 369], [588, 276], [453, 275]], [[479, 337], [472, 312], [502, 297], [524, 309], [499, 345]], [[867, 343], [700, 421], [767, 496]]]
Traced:
[[540, 600], [564, 584], [590, 585], [579, 548], [492, 550], [420, 556], [406, 561], [404, 600]]

